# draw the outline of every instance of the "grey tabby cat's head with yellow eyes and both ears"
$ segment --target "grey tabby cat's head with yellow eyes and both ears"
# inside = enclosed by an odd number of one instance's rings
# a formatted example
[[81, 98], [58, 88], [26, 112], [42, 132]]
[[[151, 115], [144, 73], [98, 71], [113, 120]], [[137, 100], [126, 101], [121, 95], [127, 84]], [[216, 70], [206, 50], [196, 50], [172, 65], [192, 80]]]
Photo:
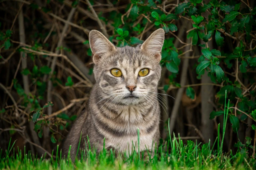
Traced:
[[115, 47], [103, 34], [89, 34], [94, 76], [99, 91], [106, 98], [124, 105], [153, 101], [161, 76], [163, 29], [153, 32], [137, 47]]

